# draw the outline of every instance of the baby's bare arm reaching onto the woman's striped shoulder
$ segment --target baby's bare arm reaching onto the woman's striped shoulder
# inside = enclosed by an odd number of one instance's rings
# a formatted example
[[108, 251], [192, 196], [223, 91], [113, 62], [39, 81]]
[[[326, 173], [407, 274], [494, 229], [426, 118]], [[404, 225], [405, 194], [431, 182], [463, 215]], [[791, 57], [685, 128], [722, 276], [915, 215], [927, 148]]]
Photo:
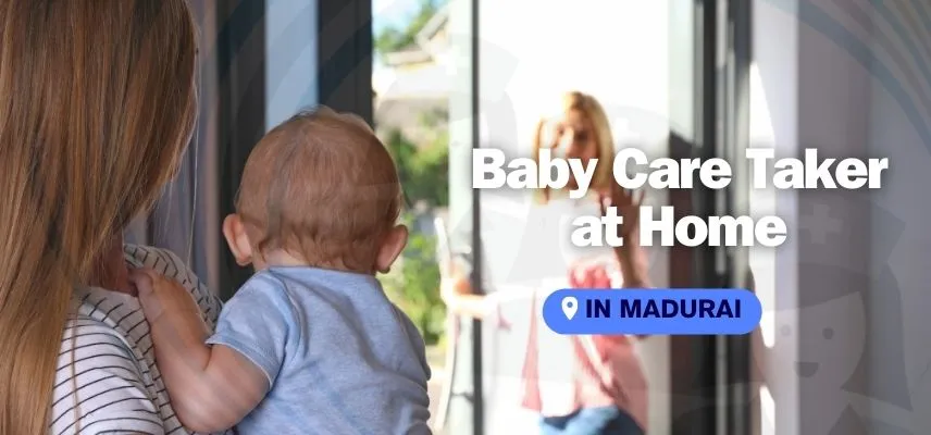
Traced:
[[204, 344], [207, 325], [178, 283], [147, 270], [136, 272], [134, 282], [178, 420], [202, 433], [236, 425], [268, 393], [265, 373], [236, 350]]

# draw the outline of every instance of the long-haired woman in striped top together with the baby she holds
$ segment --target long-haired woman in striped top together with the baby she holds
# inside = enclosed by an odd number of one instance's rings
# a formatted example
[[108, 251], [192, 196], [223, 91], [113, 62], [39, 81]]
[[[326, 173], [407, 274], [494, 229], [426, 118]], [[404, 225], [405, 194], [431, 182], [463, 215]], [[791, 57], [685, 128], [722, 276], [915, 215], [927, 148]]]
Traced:
[[194, 129], [186, 1], [2, 2], [0, 29], [0, 434], [430, 433], [423, 339], [375, 279], [400, 182], [361, 119], [253, 148], [223, 233], [257, 273], [221, 314], [122, 238]]

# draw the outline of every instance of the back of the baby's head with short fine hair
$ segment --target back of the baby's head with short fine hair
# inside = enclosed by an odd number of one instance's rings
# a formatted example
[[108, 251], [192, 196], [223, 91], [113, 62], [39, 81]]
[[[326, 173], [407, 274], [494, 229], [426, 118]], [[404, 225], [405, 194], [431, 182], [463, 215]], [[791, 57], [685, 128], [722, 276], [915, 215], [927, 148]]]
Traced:
[[364, 121], [320, 108], [252, 149], [223, 234], [240, 265], [387, 272], [407, 243], [394, 161]]

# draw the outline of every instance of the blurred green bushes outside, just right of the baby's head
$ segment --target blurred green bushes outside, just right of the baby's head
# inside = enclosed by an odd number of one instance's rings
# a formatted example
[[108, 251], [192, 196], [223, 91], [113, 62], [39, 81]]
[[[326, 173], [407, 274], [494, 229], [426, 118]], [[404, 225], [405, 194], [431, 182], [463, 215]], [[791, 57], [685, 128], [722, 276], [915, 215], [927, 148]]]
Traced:
[[[385, 145], [398, 165], [408, 207], [402, 222], [411, 228], [410, 239], [398, 268], [383, 277], [388, 297], [407, 313], [427, 345], [443, 339], [446, 310], [439, 298], [439, 266], [436, 237], [419, 228], [421, 217], [430, 217], [436, 208], [449, 203], [449, 136], [437, 126], [443, 114], [425, 115], [424, 128], [432, 140], [414, 144], [402, 132], [388, 132]], [[427, 222], [429, 224], [429, 222]]]

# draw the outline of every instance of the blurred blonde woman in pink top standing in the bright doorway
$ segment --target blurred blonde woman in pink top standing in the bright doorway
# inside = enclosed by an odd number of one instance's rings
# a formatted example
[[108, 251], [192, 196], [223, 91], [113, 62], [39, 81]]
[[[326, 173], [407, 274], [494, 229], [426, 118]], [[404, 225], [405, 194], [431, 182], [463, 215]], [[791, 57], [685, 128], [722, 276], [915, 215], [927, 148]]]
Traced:
[[[578, 91], [563, 96], [561, 113], [537, 125], [534, 139], [537, 159], [541, 150], [580, 159], [583, 164], [597, 159], [589, 195], [580, 200], [569, 199], [567, 191], [578, 186], [574, 179], [562, 191], [536, 192], [533, 203], [524, 210], [526, 220], [519, 223], [523, 232], [520, 238], [496, 241], [502, 249], [487, 246], [483, 249], [487, 253], [486, 263], [507, 263], [504, 266], [507, 271], [487, 273], [492, 275], [486, 281], [492, 290], [488, 296], [473, 294], [467, 274], [460, 270], [444, 281], [444, 300], [454, 312], [480, 319], [498, 316], [499, 324], [507, 324], [507, 320], [500, 319], [500, 307], [505, 300], [517, 300], [507, 294], [519, 291], [513, 288], [529, 288], [532, 296], [523, 298], [524, 302], [526, 299], [532, 302], [527, 313], [522, 405], [541, 415], [541, 433], [643, 434], [647, 422], [646, 381], [629, 337], [568, 337], [538, 326], [542, 300], [553, 290], [618, 285], [648, 287], [646, 253], [637, 240], [643, 195], [625, 191], [613, 182], [611, 129], [604, 109], [592, 96]], [[486, 203], [484, 197], [483, 203]], [[606, 206], [616, 207], [624, 217], [619, 228], [624, 246], [604, 250], [569, 246], [563, 226], [581, 214], [604, 213]], [[517, 228], [508, 231], [513, 229]], [[557, 240], [559, 237], [567, 240]], [[487, 245], [489, 240], [485, 241]], [[505, 246], [514, 243], [524, 246], [517, 251]], [[510, 258], [497, 253], [509, 249]], [[510, 285], [516, 282], [521, 284]]]

